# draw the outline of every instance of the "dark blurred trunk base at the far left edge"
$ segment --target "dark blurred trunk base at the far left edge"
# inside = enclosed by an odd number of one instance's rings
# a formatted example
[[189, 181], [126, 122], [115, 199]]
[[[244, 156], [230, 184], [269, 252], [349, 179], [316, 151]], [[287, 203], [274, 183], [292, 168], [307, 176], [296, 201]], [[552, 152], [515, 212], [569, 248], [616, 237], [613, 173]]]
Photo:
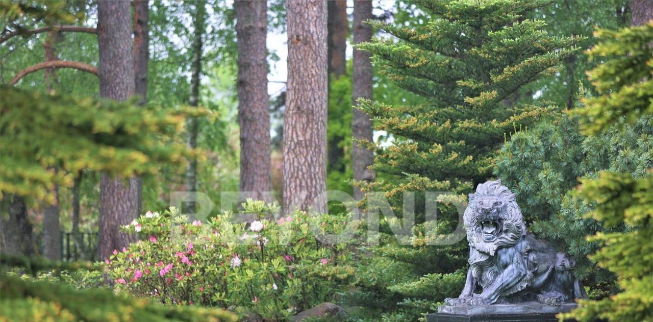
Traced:
[[14, 196], [8, 204], [7, 213], [0, 216], [0, 253], [32, 255], [32, 225], [27, 218], [25, 201]]

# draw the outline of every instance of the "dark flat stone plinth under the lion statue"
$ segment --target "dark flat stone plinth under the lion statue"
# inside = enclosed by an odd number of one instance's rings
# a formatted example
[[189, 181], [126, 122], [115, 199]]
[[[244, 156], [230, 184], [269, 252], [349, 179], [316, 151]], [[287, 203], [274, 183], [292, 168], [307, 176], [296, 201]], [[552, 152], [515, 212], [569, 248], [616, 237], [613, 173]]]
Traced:
[[492, 304], [488, 306], [439, 306], [426, 315], [426, 322], [529, 321], [557, 322], [556, 314], [575, 309], [576, 303], [545, 305], [539, 302]]

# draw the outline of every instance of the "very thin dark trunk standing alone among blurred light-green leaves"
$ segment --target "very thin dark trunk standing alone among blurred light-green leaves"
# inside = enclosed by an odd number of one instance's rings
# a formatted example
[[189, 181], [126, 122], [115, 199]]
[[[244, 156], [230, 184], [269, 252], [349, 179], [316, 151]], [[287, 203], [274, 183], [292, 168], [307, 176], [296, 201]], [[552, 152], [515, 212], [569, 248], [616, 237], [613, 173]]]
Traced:
[[[202, 76], [202, 34], [206, 8], [204, 1], [195, 1], [195, 31], [193, 35], [193, 61], [191, 62], [191, 97], [189, 104], [197, 106], [200, 97], [200, 76]], [[189, 148], [197, 148], [197, 118], [188, 118], [187, 144]], [[197, 191], [197, 159], [191, 159], [186, 169], [186, 191]], [[188, 204], [188, 213], [195, 214], [197, 204]]]

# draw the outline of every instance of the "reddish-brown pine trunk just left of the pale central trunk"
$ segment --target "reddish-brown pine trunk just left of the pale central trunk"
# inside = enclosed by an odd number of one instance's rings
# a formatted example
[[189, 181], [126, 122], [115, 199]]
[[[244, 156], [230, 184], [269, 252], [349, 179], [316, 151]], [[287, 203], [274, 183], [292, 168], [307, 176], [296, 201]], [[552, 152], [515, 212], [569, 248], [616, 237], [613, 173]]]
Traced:
[[[268, 5], [236, 0], [241, 198], [272, 201], [268, 110]], [[253, 193], [253, 195], [251, 195]]]

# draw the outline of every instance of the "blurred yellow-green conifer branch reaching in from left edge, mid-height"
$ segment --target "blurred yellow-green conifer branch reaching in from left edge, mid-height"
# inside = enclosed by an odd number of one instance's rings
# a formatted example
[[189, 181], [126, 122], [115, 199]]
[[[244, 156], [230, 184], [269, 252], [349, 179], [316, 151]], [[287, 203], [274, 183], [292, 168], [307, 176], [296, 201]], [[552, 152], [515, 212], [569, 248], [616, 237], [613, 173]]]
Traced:
[[194, 152], [165, 140], [183, 129], [186, 114], [205, 114], [7, 86], [0, 96], [0, 193], [50, 203], [54, 184], [70, 187], [83, 169], [127, 177], [153, 174], [157, 162], [183, 163]]

